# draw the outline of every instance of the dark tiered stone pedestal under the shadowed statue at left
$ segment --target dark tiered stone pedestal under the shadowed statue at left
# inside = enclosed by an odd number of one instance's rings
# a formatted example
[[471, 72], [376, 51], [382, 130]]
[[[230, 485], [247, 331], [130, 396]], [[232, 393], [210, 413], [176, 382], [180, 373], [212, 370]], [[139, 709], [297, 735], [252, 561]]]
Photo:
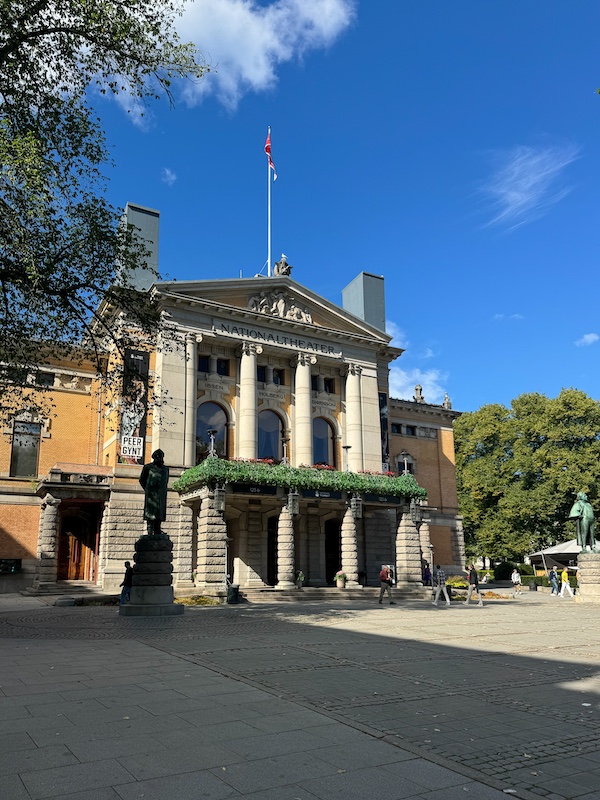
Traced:
[[173, 543], [166, 533], [142, 536], [135, 543], [131, 600], [119, 606], [122, 617], [166, 617], [183, 614], [173, 602]]

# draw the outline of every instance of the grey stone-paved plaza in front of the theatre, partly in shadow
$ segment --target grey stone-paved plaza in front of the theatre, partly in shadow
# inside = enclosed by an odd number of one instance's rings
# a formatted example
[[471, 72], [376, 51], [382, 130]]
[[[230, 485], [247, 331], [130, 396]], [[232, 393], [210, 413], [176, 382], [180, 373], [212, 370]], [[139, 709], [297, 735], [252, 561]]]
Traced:
[[0, 596], [0, 797], [599, 800], [599, 613]]

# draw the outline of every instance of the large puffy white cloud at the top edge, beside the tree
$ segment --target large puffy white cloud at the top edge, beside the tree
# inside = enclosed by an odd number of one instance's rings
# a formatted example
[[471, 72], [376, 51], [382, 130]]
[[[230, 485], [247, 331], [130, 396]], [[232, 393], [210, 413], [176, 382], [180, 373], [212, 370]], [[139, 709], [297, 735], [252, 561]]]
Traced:
[[214, 94], [235, 109], [247, 92], [271, 89], [277, 69], [309, 50], [327, 47], [354, 19], [356, 0], [196, 0], [178, 23], [214, 67], [187, 84], [190, 105]]

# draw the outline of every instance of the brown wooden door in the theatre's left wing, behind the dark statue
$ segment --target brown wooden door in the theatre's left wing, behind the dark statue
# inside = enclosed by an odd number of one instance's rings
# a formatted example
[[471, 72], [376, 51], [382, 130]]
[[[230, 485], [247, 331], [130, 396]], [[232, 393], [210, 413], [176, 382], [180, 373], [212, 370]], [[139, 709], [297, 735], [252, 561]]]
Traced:
[[58, 539], [59, 581], [94, 581], [98, 555], [98, 513], [63, 514]]

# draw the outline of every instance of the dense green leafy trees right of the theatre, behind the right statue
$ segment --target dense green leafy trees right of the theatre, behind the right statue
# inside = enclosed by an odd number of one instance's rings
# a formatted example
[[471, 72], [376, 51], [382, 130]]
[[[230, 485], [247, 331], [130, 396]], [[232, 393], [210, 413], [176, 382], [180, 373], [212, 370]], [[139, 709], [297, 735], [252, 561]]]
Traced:
[[523, 394], [455, 423], [459, 506], [475, 555], [521, 558], [575, 535], [575, 495], [600, 481], [600, 403], [577, 389]]

